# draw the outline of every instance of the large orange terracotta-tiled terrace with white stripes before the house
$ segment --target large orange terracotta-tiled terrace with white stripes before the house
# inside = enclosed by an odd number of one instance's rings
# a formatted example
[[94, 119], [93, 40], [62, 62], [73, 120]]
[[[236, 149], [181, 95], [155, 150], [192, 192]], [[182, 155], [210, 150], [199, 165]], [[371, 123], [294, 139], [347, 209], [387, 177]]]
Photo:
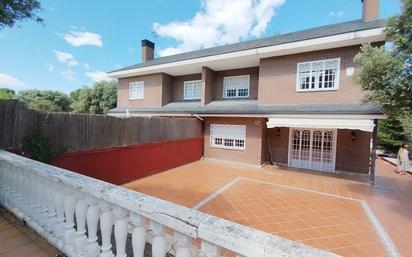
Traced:
[[372, 187], [316, 172], [203, 160], [124, 186], [343, 256], [388, 255], [376, 216], [402, 256], [412, 256], [412, 176], [393, 170], [379, 160]]

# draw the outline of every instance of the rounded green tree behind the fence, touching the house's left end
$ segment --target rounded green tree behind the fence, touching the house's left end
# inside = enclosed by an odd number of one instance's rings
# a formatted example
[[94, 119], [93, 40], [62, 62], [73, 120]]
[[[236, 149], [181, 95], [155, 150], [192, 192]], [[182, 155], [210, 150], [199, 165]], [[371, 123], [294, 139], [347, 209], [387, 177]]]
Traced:
[[78, 113], [102, 114], [116, 107], [115, 81], [100, 81], [93, 87], [84, 87], [70, 93], [71, 108]]

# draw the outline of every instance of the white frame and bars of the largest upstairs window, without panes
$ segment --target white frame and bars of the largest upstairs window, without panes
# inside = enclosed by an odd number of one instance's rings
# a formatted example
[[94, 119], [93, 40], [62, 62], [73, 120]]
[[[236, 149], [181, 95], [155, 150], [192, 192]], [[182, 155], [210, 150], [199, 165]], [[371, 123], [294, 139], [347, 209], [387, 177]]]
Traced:
[[[337, 61], [338, 66], [337, 66], [337, 71], [336, 71], [336, 76], [335, 76], [335, 81], [334, 81], [334, 87], [333, 88], [324, 88], [325, 85], [325, 63], [327, 61]], [[319, 85], [315, 85], [315, 88], [310, 88], [310, 84], [312, 81], [309, 82], [309, 88], [308, 89], [301, 89], [300, 88], [300, 80], [299, 80], [299, 65], [304, 65], [304, 64], [310, 64], [310, 73], [309, 73], [309, 78], [312, 78], [312, 64], [316, 62], [323, 62], [323, 80], [322, 80], [322, 88], [319, 88]], [[309, 62], [299, 62], [296, 65], [296, 92], [316, 92], [316, 91], [335, 91], [339, 89], [339, 81], [340, 81], [340, 63], [341, 63], [341, 58], [333, 58], [333, 59], [323, 59], [323, 60], [314, 60], [314, 61], [309, 61]]]

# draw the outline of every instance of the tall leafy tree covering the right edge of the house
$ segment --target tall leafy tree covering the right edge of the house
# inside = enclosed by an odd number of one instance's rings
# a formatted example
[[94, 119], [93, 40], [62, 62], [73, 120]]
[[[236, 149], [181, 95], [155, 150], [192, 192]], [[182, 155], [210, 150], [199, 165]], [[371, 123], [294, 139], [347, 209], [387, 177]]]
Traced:
[[380, 122], [378, 144], [394, 152], [412, 139], [412, 0], [402, 0], [400, 15], [388, 19], [388, 44], [363, 45], [355, 62], [365, 101], [379, 102], [389, 118]]

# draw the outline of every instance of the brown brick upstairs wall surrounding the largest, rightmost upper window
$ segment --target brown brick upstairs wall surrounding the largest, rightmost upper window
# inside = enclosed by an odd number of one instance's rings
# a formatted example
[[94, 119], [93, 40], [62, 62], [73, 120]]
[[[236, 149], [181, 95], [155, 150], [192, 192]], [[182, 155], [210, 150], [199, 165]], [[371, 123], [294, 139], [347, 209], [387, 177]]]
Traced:
[[[353, 62], [360, 46], [307, 52], [262, 59], [259, 68], [259, 104], [303, 103], [359, 103], [364, 95], [353, 76], [346, 76], [346, 68]], [[296, 92], [297, 64], [299, 62], [341, 58], [339, 89], [322, 92]]]

